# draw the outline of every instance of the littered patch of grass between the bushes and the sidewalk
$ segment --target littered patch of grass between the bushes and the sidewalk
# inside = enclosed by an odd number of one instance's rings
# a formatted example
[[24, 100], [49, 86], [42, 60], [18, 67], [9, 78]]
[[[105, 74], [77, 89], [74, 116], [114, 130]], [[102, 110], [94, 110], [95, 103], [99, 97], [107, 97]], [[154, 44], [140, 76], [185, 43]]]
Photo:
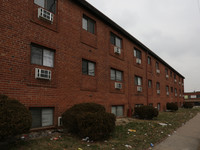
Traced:
[[[150, 147], [150, 143], [159, 143], [174, 130], [193, 118], [200, 108], [179, 109], [177, 112], [161, 112], [154, 120], [133, 120], [126, 125], [117, 126], [115, 132], [108, 141], [83, 142], [81, 139], [69, 135], [63, 135], [61, 139], [51, 141], [50, 137], [18, 141], [10, 144], [7, 150], [125, 150], [125, 145], [131, 145], [132, 149], [143, 150]], [[166, 123], [161, 126], [158, 123]], [[136, 132], [128, 132], [134, 129]]]

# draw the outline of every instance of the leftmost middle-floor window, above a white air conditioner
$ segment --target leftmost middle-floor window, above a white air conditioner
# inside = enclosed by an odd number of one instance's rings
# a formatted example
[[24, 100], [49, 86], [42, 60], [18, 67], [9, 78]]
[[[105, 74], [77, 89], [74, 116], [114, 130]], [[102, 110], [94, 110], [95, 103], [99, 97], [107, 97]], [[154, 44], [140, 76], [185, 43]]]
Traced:
[[31, 63], [47, 67], [53, 67], [54, 51], [44, 48], [42, 46], [31, 44]]

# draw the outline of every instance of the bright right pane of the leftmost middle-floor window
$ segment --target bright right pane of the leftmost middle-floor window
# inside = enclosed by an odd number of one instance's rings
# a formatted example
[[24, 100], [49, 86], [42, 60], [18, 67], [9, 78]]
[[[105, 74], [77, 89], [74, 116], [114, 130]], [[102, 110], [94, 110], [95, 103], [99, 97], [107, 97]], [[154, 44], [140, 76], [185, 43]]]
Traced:
[[45, 50], [43, 51], [43, 65], [53, 67], [54, 52]]

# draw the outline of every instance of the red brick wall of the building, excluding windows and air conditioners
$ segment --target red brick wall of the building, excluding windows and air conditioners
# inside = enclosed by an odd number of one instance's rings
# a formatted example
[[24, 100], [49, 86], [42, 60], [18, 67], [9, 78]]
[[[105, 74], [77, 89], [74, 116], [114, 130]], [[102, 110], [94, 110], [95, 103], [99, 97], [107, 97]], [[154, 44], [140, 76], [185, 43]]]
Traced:
[[[57, 117], [76, 103], [95, 102], [111, 111], [112, 105], [124, 105], [126, 116], [135, 104], [157, 103], [161, 110], [167, 102], [183, 102], [179, 89], [184, 87], [165, 77], [165, 66], [160, 63], [160, 75], [156, 74], [155, 61], [147, 65], [147, 53], [119, 32], [103, 23], [90, 12], [73, 2], [58, 0], [53, 24], [37, 18], [38, 6], [33, 0], [2, 1], [0, 5], [0, 93], [20, 100], [27, 107], [54, 107], [54, 123]], [[96, 21], [95, 35], [82, 29], [83, 14]], [[110, 32], [122, 38], [122, 54], [114, 54], [110, 44]], [[31, 64], [30, 44], [35, 43], [55, 50], [54, 67]], [[142, 51], [142, 64], [136, 64], [133, 48]], [[95, 77], [82, 75], [82, 58], [96, 63]], [[52, 71], [52, 80], [35, 79], [34, 69]], [[122, 89], [114, 89], [110, 80], [110, 68], [123, 71]], [[148, 71], [147, 71], [148, 70]], [[136, 91], [134, 76], [142, 77], [142, 92]], [[169, 70], [170, 76], [170, 70]], [[178, 78], [178, 77], [177, 77]], [[147, 80], [152, 80], [152, 89]], [[161, 94], [156, 93], [160, 82]], [[169, 96], [165, 86], [169, 85]], [[171, 93], [177, 88], [178, 96]], [[147, 91], [148, 90], [148, 91]], [[148, 94], [147, 94], [148, 93]]]

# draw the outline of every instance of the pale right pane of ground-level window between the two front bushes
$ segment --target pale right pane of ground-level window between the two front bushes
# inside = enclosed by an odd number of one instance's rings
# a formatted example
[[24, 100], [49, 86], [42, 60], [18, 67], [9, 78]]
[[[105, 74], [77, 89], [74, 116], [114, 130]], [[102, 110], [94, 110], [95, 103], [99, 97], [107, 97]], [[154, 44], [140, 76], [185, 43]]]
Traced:
[[42, 109], [42, 126], [51, 126], [53, 125], [53, 109], [52, 108], [43, 108]]

